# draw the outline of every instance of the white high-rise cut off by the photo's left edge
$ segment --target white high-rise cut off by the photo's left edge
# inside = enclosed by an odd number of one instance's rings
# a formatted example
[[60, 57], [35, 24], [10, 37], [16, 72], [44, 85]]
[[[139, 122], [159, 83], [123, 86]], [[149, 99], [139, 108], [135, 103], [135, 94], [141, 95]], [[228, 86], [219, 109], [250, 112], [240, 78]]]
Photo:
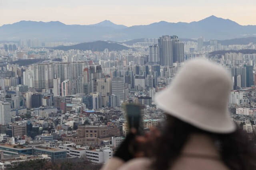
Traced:
[[0, 102], [0, 124], [6, 125], [11, 122], [11, 104]]

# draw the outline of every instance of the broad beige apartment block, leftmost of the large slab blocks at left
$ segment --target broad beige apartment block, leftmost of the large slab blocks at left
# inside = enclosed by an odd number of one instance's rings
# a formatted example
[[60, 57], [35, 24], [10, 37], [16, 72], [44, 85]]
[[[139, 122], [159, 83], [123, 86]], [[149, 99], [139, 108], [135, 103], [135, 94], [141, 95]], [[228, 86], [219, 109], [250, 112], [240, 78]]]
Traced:
[[54, 65], [37, 64], [32, 66], [35, 89], [49, 89], [53, 87]]

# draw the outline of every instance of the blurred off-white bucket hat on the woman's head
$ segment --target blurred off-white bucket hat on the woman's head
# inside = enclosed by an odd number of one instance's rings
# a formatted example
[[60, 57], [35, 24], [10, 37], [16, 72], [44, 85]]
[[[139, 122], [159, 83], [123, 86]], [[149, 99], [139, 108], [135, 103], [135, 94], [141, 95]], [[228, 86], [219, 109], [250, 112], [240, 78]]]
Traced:
[[231, 80], [226, 70], [210, 61], [196, 59], [184, 64], [155, 102], [166, 113], [213, 133], [236, 130], [228, 113]]

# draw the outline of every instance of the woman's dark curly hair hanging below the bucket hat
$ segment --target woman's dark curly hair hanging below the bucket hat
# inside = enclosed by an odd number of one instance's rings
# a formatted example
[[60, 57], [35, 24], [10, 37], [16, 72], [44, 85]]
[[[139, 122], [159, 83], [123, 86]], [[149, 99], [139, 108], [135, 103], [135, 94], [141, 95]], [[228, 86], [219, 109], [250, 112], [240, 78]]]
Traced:
[[231, 170], [256, 170], [255, 140], [241, 130], [234, 133], [210, 133], [194, 127], [180, 119], [167, 115], [162, 135], [153, 149], [154, 161], [151, 168], [155, 170], [170, 169], [193, 133], [203, 133], [218, 143], [222, 162]]

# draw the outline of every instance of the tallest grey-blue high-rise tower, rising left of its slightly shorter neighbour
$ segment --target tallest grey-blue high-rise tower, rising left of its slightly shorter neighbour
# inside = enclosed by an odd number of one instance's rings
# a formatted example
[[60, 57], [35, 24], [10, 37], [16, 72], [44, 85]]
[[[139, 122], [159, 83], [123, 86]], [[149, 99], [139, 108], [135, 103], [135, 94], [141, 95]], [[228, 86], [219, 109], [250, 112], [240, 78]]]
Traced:
[[172, 66], [172, 39], [169, 35], [158, 39], [158, 58], [161, 66]]

